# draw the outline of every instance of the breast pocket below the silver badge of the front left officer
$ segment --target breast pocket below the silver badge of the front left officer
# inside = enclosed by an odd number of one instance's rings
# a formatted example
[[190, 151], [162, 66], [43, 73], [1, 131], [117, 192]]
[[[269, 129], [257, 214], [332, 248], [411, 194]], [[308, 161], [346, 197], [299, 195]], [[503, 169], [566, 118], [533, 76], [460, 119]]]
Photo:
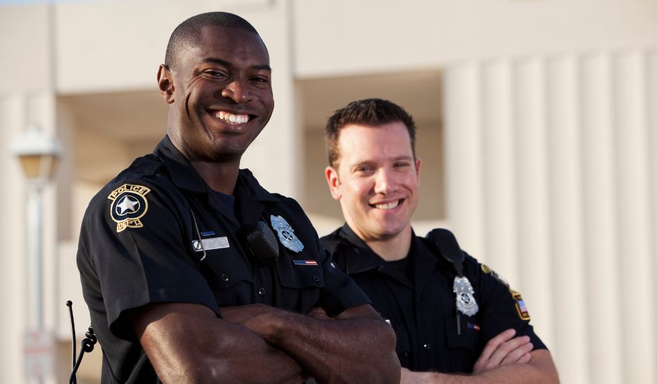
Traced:
[[307, 314], [317, 305], [319, 291], [324, 287], [324, 272], [316, 260], [284, 254], [276, 262], [276, 273], [281, 307]]

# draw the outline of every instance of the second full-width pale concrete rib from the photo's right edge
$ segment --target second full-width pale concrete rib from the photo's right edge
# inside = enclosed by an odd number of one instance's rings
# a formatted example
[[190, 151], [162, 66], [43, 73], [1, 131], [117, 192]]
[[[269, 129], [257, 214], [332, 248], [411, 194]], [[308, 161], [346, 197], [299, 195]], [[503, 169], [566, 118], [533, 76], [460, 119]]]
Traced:
[[[622, 383], [612, 64], [606, 54], [580, 63], [585, 303], [591, 383]], [[601, 337], [604, 335], [604, 337]]]

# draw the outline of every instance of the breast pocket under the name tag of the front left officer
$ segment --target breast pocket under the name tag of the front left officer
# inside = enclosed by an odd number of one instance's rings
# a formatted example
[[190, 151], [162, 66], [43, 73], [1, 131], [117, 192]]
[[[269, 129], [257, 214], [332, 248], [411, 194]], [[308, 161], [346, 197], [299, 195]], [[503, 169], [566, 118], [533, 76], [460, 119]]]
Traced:
[[251, 271], [233, 248], [207, 251], [200, 265], [219, 307], [255, 302]]

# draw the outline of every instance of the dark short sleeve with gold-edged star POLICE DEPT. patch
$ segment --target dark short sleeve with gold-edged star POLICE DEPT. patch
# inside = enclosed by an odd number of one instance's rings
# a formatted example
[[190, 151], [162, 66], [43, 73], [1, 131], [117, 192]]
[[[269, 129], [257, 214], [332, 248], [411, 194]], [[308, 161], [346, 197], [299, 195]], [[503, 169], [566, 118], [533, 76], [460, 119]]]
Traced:
[[198, 303], [219, 314], [190, 256], [189, 208], [158, 179], [114, 182], [92, 200], [81, 228], [85, 294], [97, 296], [104, 308], [95, 310], [106, 312], [111, 333], [123, 339], [132, 337], [129, 310], [149, 303]]

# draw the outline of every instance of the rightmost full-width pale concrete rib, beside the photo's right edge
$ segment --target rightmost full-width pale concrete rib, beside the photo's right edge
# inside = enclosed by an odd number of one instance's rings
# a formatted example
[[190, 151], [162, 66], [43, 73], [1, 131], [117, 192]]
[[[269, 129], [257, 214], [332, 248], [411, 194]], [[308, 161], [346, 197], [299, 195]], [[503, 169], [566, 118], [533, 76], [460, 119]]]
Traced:
[[[655, 383], [654, 275], [651, 253], [647, 131], [646, 58], [639, 53], [615, 60], [615, 143], [618, 267], [623, 316], [625, 383]], [[654, 152], [654, 148], [650, 149]], [[646, 321], [643, 325], [643, 321]]]

